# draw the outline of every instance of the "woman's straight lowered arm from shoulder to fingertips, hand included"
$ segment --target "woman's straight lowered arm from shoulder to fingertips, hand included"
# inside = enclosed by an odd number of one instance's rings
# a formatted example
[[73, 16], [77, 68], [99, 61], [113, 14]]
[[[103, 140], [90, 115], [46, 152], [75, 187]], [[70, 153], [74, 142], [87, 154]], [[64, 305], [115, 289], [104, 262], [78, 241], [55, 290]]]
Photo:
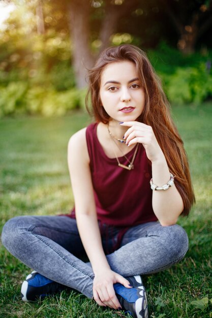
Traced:
[[94, 299], [101, 306], [120, 307], [113, 284], [126, 287], [129, 281], [113, 272], [107, 262], [98, 225], [92, 178], [89, 169], [85, 129], [73, 135], [68, 145], [68, 165], [75, 200], [77, 226], [87, 256], [95, 274]]

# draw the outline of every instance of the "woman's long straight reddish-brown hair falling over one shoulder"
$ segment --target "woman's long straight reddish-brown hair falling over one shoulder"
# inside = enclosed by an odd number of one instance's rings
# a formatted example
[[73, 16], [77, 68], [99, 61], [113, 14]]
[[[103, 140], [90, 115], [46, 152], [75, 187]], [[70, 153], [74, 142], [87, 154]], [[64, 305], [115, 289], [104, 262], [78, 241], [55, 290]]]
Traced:
[[[152, 126], [158, 143], [166, 157], [170, 172], [175, 176], [175, 185], [184, 203], [183, 215], [188, 215], [195, 196], [191, 183], [187, 155], [179, 133], [170, 115], [170, 105], [163, 91], [161, 81], [156, 75], [145, 52], [133, 45], [120, 45], [105, 49], [88, 71], [89, 87], [86, 96], [86, 107], [93, 113], [96, 121], [108, 123], [109, 115], [100, 100], [100, 82], [104, 68], [111, 62], [128, 60], [136, 66], [136, 71], [145, 91], [145, 106], [137, 119]], [[92, 104], [89, 110], [88, 100]]]

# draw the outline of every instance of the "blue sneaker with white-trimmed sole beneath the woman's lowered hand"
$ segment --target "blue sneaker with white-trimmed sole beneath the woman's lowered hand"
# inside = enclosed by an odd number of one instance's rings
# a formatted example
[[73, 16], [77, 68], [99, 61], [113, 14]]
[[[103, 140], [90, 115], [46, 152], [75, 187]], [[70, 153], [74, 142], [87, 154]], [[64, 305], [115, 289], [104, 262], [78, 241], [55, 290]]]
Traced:
[[129, 276], [126, 279], [130, 281], [132, 288], [126, 288], [120, 283], [113, 285], [122, 309], [134, 318], [148, 318], [146, 292], [141, 276]]

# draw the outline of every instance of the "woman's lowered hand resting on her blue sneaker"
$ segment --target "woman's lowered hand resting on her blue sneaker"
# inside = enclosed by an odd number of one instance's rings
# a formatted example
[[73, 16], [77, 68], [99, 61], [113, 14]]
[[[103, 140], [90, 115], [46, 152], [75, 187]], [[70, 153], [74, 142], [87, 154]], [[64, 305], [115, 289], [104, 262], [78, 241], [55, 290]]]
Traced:
[[131, 288], [130, 282], [126, 278], [111, 269], [95, 273], [93, 294], [95, 301], [100, 306], [108, 306], [113, 309], [122, 308], [113, 288], [113, 284], [116, 282], [123, 284], [126, 288]]

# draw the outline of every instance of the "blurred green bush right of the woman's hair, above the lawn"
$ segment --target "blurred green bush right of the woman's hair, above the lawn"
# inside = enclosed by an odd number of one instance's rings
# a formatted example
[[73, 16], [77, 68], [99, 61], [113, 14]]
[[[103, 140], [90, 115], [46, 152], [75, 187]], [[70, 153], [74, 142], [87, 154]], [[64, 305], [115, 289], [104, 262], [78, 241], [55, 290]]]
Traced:
[[207, 67], [212, 61], [211, 51], [183, 55], [162, 42], [147, 55], [162, 78], [170, 102], [198, 104], [212, 98], [212, 71]]

